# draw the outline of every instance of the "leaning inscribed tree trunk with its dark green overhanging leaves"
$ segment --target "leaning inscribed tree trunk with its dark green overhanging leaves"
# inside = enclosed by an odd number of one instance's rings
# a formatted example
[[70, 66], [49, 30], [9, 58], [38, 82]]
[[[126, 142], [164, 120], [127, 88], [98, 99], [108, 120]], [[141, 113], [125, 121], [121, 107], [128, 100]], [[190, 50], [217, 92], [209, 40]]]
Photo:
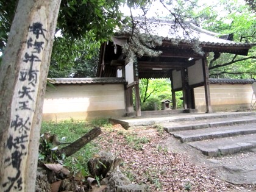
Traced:
[[[59, 7], [59, 27], [71, 41], [88, 33], [103, 41], [121, 25], [118, 5], [122, 1], [19, 1], [9, 33], [8, 26], [2, 27], [3, 19], [10, 23], [16, 2], [0, 1], [6, 9], [0, 10], [4, 51], [0, 66], [0, 191], [34, 191], [42, 105]], [[8, 42], [3, 38], [7, 36]]]

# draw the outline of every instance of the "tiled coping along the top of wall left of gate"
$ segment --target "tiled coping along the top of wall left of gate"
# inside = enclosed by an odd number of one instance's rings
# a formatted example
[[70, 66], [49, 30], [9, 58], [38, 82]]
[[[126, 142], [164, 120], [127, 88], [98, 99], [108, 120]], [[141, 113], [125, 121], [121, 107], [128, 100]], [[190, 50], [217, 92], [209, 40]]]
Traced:
[[126, 80], [118, 77], [98, 78], [48, 78], [51, 84], [126, 84]]

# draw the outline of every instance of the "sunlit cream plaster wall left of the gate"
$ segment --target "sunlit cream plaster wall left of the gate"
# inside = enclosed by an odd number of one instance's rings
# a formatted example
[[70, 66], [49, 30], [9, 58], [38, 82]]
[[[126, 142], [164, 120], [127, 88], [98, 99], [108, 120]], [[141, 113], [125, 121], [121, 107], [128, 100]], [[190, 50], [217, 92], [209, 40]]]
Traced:
[[[93, 116], [90, 113], [93, 112]], [[125, 115], [123, 84], [58, 85], [47, 88], [44, 98], [44, 119], [91, 119]]]

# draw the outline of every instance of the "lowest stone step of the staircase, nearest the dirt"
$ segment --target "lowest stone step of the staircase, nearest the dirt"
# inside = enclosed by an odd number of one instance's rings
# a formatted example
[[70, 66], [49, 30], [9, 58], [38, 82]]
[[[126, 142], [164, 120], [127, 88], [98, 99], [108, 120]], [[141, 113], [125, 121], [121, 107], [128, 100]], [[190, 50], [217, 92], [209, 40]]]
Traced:
[[256, 148], [256, 134], [187, 143], [204, 155], [218, 157]]

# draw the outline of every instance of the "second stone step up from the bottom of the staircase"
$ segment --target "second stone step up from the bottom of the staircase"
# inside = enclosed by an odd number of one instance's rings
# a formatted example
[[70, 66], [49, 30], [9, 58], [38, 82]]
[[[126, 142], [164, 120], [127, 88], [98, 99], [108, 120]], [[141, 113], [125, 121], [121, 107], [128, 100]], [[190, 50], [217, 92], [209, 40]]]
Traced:
[[179, 138], [184, 143], [253, 133], [256, 133], [256, 123], [171, 132], [171, 135]]

